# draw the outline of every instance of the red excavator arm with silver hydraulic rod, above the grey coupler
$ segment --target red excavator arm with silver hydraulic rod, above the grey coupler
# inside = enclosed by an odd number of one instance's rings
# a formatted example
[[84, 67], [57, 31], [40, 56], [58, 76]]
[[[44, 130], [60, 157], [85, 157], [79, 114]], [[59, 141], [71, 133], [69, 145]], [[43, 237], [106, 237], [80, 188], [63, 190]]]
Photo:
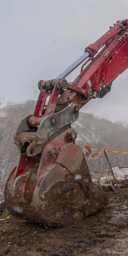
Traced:
[[[75, 64], [72, 64], [58, 76], [60, 79], [65, 78], [81, 62], [87, 59], [81, 67], [79, 76], [73, 83], [67, 84], [68, 90], [59, 97], [57, 106], [53, 111], [60, 111], [70, 102], [77, 103], [81, 108], [92, 99], [92, 96], [93, 98], [103, 98], [111, 90], [113, 80], [128, 68], [127, 23], [128, 20], [123, 20], [114, 24], [105, 35], [85, 49], [85, 54]], [[101, 51], [99, 52], [99, 50]], [[95, 55], [96, 57], [94, 57]], [[89, 64], [87, 65], [87, 63]], [[41, 87], [44, 86], [44, 83], [46, 82], [41, 83]], [[74, 93], [71, 93], [71, 91]], [[40, 98], [39, 96], [39, 100]], [[40, 107], [42, 109], [43, 104]]]

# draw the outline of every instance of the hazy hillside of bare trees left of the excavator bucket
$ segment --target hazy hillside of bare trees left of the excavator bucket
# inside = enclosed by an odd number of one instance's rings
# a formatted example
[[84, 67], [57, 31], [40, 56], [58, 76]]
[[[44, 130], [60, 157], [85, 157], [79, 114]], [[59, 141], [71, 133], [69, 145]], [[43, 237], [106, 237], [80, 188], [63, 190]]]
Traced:
[[20, 121], [33, 113], [35, 101], [21, 104], [7, 104], [4, 108], [6, 117], [0, 117], [0, 201], [4, 198], [6, 180], [17, 165], [19, 151], [14, 144], [14, 133]]

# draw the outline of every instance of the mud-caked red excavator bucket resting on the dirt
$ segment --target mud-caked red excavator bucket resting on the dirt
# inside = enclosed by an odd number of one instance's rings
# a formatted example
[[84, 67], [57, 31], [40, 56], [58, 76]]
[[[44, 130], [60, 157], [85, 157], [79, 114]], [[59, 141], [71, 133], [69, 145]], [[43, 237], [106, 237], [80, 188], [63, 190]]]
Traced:
[[92, 182], [83, 151], [75, 145], [74, 137], [74, 130], [67, 129], [47, 143], [41, 154], [20, 155], [5, 189], [6, 205], [13, 215], [64, 227], [108, 204], [103, 189]]

